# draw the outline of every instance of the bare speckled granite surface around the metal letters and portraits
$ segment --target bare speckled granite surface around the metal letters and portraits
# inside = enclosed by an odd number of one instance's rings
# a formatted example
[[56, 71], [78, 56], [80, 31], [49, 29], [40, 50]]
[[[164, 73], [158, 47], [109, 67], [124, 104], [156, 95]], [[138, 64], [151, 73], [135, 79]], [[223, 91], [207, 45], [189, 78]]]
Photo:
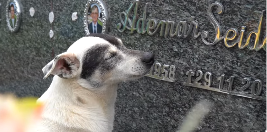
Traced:
[[[190, 108], [199, 100], [214, 103], [211, 112], [196, 130], [266, 130], [266, 102], [204, 89], [183, 86], [186, 71], [202, 70], [213, 74], [213, 86], [221, 74], [226, 78], [235, 76], [234, 89], [243, 86], [242, 78], [260, 79], [266, 90], [266, 51], [226, 48], [220, 42], [214, 46], [204, 45], [200, 38], [187, 39], [163, 37], [159, 33], [130, 34], [117, 31], [119, 13], [131, 4], [126, 0], [104, 0], [110, 14], [109, 34], [120, 37], [130, 49], [145, 50], [156, 54], [156, 62], [175, 65], [176, 81], [164, 82], [149, 77], [121, 83], [116, 102], [114, 131], [174, 131], [178, 130]], [[144, 0], [140, 3], [139, 17], [143, 7], [149, 2], [147, 20], [179, 21], [194, 16], [199, 23], [199, 31], [209, 31], [213, 41], [215, 30], [207, 16], [207, 8], [213, 0]], [[222, 15], [215, 15], [224, 34], [227, 29], [246, 25], [248, 32], [258, 26], [259, 15], [266, 10], [264, 0], [219, 0], [225, 9]], [[9, 33], [5, 21], [5, 0], [0, 0], [0, 92], [13, 92], [19, 97], [41, 96], [49, 87], [52, 77], [43, 80], [41, 69], [55, 55], [85, 35], [83, 30], [83, 10], [86, 0], [53, 1], [54, 22], [50, 24], [48, 14], [51, 3], [46, 0], [21, 0], [24, 13], [22, 24], [17, 33]], [[30, 7], [35, 15], [30, 16]], [[78, 19], [72, 21], [73, 12]], [[214, 11], [215, 12], [215, 11]], [[265, 18], [266, 19], [266, 18]], [[266, 34], [266, 24], [264, 25]], [[54, 36], [49, 38], [49, 31]], [[265, 35], [264, 34], [264, 35]], [[228, 84], [227, 84], [228, 85]], [[225, 87], [227, 87], [227, 85]]]

